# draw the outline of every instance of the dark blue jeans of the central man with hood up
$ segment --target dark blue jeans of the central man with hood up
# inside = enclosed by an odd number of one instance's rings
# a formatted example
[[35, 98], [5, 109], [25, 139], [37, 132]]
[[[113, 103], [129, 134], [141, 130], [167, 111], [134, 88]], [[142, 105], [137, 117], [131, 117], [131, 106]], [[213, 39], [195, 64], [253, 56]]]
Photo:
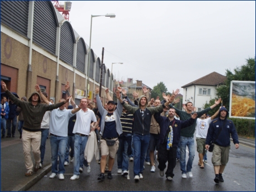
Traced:
[[147, 148], [149, 147], [150, 134], [134, 134], [134, 176], [143, 173], [143, 166]]

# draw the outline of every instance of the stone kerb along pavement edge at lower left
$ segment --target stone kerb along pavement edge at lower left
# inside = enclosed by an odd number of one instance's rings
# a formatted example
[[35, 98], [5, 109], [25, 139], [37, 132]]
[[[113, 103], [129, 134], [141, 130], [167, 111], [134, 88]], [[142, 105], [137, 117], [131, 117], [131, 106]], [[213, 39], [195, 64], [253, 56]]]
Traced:
[[31, 180], [25, 184], [19, 184], [12, 191], [27, 191], [31, 186], [35, 185], [37, 181], [42, 179], [43, 176], [47, 175], [51, 171], [51, 168], [52, 164], [49, 164], [46, 165], [45, 168], [38, 170], [37, 173], [33, 172], [33, 175], [30, 176]]

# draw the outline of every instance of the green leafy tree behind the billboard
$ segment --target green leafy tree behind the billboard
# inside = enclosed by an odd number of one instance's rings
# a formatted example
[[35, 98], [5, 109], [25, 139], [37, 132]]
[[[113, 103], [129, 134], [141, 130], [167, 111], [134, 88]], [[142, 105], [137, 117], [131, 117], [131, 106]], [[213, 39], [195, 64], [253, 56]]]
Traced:
[[234, 73], [226, 69], [225, 85], [216, 88], [217, 95], [223, 100], [223, 105], [229, 110], [230, 81], [255, 81], [255, 57], [248, 58], [247, 63], [236, 67]]

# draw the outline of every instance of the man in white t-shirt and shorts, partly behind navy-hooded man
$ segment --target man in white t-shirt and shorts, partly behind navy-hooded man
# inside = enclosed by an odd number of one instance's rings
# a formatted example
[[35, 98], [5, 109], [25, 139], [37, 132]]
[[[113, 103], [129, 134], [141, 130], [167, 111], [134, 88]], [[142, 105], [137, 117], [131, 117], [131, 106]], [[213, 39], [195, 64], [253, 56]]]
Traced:
[[201, 169], [204, 169], [204, 163], [203, 163], [203, 157], [205, 154], [205, 140], [206, 140], [206, 135], [209, 129], [209, 125], [211, 121], [218, 115], [219, 110], [215, 112], [213, 116], [210, 118], [206, 119], [206, 114], [203, 114], [200, 118], [196, 119], [196, 150], [198, 151], [199, 155], [199, 161], [198, 165], [200, 165]]

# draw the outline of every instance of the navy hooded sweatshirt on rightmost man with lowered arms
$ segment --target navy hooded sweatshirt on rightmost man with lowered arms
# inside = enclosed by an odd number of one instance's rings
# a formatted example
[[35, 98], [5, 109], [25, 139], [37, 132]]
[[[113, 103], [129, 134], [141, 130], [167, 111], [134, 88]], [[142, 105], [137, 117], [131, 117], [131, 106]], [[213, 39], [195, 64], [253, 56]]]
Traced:
[[[227, 111], [227, 115], [225, 116], [224, 120], [221, 120], [220, 112], [223, 110]], [[233, 121], [227, 119], [228, 114], [229, 112], [225, 107], [220, 108], [219, 117], [211, 121], [211, 124], [208, 129], [208, 133], [206, 136], [205, 145], [210, 145], [210, 142], [215, 140], [214, 144], [216, 145], [223, 146], [223, 147], [230, 146], [230, 135], [232, 136], [234, 144], [239, 144], [237, 130], [235, 130]], [[219, 134], [219, 131], [220, 131], [220, 134]]]

